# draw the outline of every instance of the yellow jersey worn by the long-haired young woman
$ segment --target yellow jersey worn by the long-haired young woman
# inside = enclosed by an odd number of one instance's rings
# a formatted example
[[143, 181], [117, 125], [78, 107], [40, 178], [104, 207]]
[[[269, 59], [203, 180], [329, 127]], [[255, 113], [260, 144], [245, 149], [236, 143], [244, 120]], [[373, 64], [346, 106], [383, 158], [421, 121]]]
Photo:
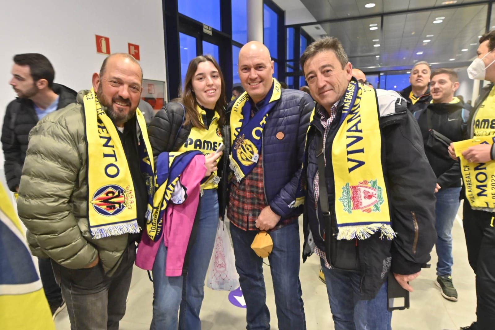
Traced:
[[[199, 121], [204, 125], [203, 116], [206, 115], [206, 111], [201, 109], [199, 106], [197, 107], [197, 110], [200, 114]], [[218, 127], [218, 119], [220, 119], [220, 116], [215, 111], [208, 129], [192, 127], [186, 143], [181, 145], [178, 151], [185, 152], [190, 150], [199, 150], [205, 156], [215, 152], [220, 143], [223, 141], [222, 133]], [[217, 159], [217, 163], [220, 163], [220, 158], [221, 157]], [[201, 183], [201, 191], [204, 189], [215, 189], [218, 187], [219, 183], [220, 178], [217, 176], [217, 171], [215, 171]]]

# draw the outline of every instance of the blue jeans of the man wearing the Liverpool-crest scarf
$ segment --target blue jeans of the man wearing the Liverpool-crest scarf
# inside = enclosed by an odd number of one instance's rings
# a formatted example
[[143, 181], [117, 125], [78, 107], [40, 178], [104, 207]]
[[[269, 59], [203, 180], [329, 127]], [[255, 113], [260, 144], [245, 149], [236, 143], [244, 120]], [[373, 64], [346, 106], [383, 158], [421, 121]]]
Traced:
[[323, 259], [321, 269], [335, 330], [392, 330], [392, 312], [387, 310], [387, 282], [375, 298], [360, 300], [361, 273], [328, 269]]

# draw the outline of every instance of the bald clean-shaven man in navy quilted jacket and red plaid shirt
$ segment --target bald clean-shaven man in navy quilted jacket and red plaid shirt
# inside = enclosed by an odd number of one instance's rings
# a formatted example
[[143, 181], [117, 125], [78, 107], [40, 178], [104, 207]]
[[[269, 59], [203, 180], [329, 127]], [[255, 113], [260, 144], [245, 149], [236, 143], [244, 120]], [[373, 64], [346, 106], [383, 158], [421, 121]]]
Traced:
[[227, 216], [247, 305], [247, 329], [270, 329], [263, 259], [250, 247], [254, 237], [266, 231], [273, 241], [268, 260], [278, 329], [303, 330], [297, 218], [302, 212], [300, 176], [314, 103], [306, 93], [281, 89], [273, 78], [270, 52], [259, 42], [241, 48], [239, 77], [246, 92], [227, 110], [232, 132], [230, 168], [234, 172]]

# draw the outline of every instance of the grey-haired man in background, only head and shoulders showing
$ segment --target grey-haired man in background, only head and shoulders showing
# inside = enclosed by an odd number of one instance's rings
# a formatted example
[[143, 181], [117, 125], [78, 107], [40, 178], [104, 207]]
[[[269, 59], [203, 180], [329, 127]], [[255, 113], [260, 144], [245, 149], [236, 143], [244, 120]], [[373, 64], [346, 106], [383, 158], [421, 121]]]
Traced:
[[414, 64], [409, 76], [409, 85], [400, 94], [408, 100], [407, 108], [411, 112], [425, 109], [432, 100], [430, 95], [430, 64], [419, 61]]

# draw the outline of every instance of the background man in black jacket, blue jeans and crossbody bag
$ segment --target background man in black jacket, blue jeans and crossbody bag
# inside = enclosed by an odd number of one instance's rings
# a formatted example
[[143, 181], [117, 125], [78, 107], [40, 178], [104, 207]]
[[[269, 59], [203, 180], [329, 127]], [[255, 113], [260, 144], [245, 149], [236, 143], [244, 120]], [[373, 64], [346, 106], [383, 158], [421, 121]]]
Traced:
[[459, 209], [462, 186], [459, 161], [448, 155], [446, 144], [466, 139], [469, 110], [457, 97], [459, 79], [451, 69], [438, 69], [430, 77], [433, 100], [428, 107], [414, 112], [423, 135], [425, 153], [437, 177], [435, 189], [435, 229], [437, 231], [437, 280], [442, 296], [457, 301], [457, 290], [452, 283], [452, 226]]

